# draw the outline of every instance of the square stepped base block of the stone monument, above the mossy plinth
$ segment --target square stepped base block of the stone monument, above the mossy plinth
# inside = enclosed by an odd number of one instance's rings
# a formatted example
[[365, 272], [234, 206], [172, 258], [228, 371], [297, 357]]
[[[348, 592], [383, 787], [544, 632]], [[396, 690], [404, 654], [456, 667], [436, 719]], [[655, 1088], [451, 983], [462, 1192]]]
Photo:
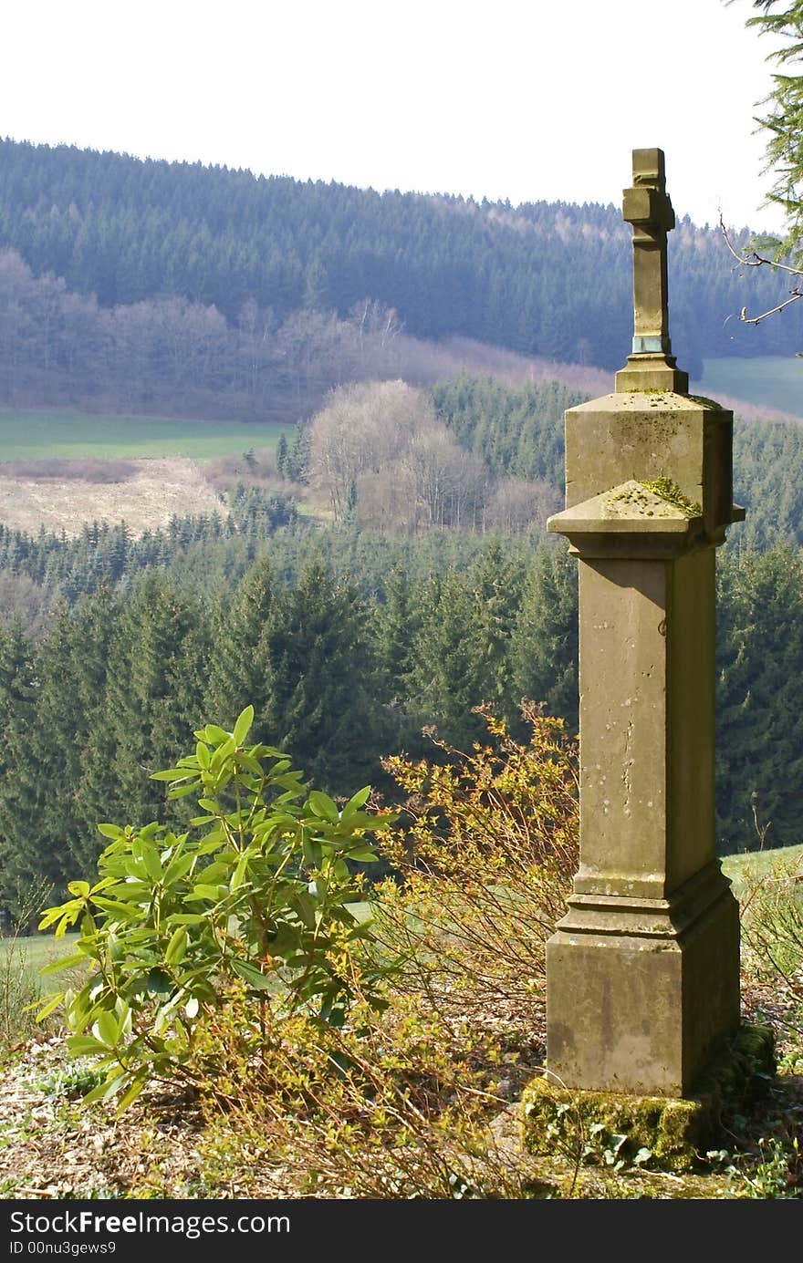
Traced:
[[572, 895], [546, 997], [554, 1081], [685, 1096], [740, 1022], [739, 904], [718, 861], [669, 899]]

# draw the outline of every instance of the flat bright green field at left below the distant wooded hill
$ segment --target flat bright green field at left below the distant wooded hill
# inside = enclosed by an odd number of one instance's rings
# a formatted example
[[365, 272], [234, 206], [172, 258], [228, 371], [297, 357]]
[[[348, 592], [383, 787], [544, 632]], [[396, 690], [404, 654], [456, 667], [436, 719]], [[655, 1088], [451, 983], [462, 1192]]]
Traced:
[[58, 457], [187, 456], [211, 460], [274, 448], [291, 426], [242, 421], [102, 417], [53, 409], [0, 410], [0, 461]]

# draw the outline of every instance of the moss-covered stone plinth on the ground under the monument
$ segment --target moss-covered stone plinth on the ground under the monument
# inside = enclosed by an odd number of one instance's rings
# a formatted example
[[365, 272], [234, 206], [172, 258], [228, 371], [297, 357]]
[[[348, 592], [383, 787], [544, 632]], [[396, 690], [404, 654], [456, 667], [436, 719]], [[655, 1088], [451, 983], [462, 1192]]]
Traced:
[[522, 1144], [532, 1154], [578, 1158], [589, 1147], [615, 1146], [623, 1162], [639, 1158], [647, 1168], [688, 1172], [774, 1071], [771, 1029], [742, 1026], [689, 1098], [573, 1091], [546, 1076], [535, 1079], [521, 1103]]

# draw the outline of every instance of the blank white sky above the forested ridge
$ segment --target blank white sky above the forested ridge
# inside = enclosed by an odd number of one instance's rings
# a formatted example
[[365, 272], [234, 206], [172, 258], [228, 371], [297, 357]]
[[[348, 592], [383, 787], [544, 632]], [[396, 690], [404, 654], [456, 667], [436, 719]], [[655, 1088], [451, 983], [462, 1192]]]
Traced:
[[760, 211], [750, 0], [6, 0], [0, 134], [376, 189]]

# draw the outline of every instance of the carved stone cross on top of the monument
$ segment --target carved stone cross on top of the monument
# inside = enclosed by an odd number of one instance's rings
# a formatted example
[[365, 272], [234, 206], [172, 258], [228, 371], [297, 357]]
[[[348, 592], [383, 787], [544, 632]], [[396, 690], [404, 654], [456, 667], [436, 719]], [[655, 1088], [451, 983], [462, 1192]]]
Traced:
[[675, 226], [675, 212], [666, 195], [664, 152], [634, 149], [632, 164], [622, 218], [634, 230], [634, 342], [616, 389], [685, 393], [688, 374], [675, 368], [669, 338], [666, 234]]

